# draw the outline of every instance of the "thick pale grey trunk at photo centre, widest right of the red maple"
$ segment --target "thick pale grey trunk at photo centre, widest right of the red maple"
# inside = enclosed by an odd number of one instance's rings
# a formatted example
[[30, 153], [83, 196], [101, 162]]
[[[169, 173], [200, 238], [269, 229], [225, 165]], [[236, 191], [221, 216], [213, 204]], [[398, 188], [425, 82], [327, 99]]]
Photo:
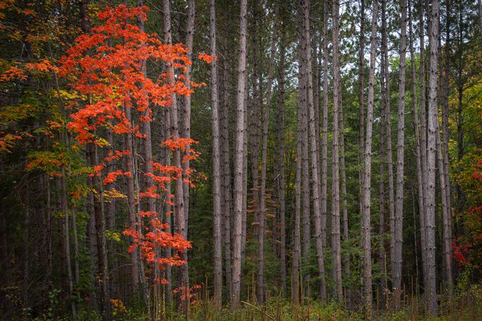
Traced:
[[241, 285], [241, 233], [243, 220], [243, 158], [244, 149], [244, 118], [246, 91], [246, 16], [247, 1], [241, 0], [239, 28], [239, 66], [238, 90], [236, 103], [236, 141], [234, 146], [234, 224], [233, 224], [233, 290], [231, 292], [231, 308], [239, 308], [239, 292]]

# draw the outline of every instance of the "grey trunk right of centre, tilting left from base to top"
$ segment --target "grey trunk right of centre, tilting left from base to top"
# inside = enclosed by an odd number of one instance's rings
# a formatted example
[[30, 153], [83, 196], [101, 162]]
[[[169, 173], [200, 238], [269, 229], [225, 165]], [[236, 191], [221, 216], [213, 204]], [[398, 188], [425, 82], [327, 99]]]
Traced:
[[[313, 191], [313, 214], [315, 218], [315, 240], [316, 240], [316, 258], [318, 262], [319, 275], [319, 291], [318, 297], [321, 300], [326, 300], [326, 284], [325, 284], [325, 263], [323, 260], [323, 240], [321, 239], [321, 207], [320, 207], [320, 190], [319, 188], [319, 176], [320, 167], [318, 163], [318, 139], [316, 135], [316, 123], [315, 108], [313, 106], [313, 76], [311, 71], [311, 40], [310, 40], [310, 26], [309, 26], [309, 0], [303, 0], [303, 26], [306, 39], [305, 57], [306, 57], [306, 83], [307, 90], [307, 103], [309, 112], [309, 131], [311, 141], [311, 176], [312, 176], [312, 191]], [[316, 107], [318, 108], [318, 107]]]

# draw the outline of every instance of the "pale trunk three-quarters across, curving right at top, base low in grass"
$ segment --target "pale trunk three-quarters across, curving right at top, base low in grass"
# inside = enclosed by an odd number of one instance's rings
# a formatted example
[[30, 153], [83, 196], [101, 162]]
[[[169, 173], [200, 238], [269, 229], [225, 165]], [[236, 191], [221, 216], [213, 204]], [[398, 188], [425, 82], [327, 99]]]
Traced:
[[378, 2], [373, 2], [371, 17], [371, 36], [370, 36], [370, 73], [368, 75], [368, 106], [366, 109], [366, 141], [365, 141], [365, 171], [363, 178], [363, 283], [365, 285], [365, 309], [366, 319], [371, 319], [371, 223], [370, 223], [370, 203], [371, 203], [371, 136], [373, 128], [373, 97], [375, 91], [375, 67], [376, 67], [376, 34]]

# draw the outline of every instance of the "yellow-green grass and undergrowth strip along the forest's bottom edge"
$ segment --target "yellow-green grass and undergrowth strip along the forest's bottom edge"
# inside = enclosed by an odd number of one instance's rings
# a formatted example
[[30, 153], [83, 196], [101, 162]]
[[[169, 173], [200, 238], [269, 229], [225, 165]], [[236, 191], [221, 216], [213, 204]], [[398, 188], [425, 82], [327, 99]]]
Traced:
[[[348, 310], [335, 303], [328, 305], [317, 301], [307, 301], [303, 305], [293, 307], [289, 300], [272, 298], [265, 305], [242, 303], [237, 311], [229, 308], [217, 309], [211, 300], [199, 300], [189, 310], [189, 316], [176, 315], [166, 311], [159, 320], [192, 320], [192, 321], [308, 321], [308, 320], [366, 320], [363, 309]], [[474, 285], [471, 289], [459, 292], [451, 300], [441, 297], [439, 316], [426, 317], [423, 313], [423, 297], [408, 298], [401, 311], [393, 313], [374, 310], [372, 320], [447, 320], [478, 321], [482, 320], [482, 287]], [[81, 318], [82, 320], [84, 318]], [[86, 319], [87, 320], [87, 319]], [[88, 320], [92, 320], [88, 319]], [[148, 320], [145, 313], [137, 310], [114, 310], [114, 320]]]

